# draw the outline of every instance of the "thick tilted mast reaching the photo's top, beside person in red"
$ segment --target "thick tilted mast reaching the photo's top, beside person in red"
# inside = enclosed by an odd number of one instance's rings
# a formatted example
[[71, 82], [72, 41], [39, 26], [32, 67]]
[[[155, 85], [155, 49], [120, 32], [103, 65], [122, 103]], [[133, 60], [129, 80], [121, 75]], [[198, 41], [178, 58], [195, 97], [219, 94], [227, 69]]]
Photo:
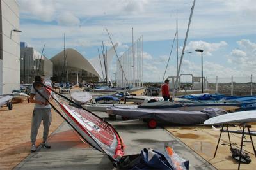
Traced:
[[184, 56], [184, 51], [185, 51], [185, 48], [186, 48], [186, 43], [187, 43], [187, 39], [188, 39], [188, 32], [189, 32], [189, 27], [190, 27], [190, 24], [191, 24], [191, 19], [192, 19], [194, 7], [195, 7], [195, 2], [196, 2], [196, 0], [193, 1], [193, 5], [191, 7], [191, 13], [190, 13], [190, 16], [189, 16], [188, 28], [187, 28], [186, 37], [185, 37], [185, 40], [184, 40], [184, 45], [183, 45], [183, 49], [182, 49], [182, 53], [181, 53], [181, 57], [180, 57], [180, 64], [179, 64], [179, 69], [178, 69], [178, 73], [177, 73], [177, 78], [175, 80], [175, 85], [174, 85], [174, 89], [173, 89], [173, 100], [174, 100], [174, 96], [175, 96], [174, 91], [177, 88], [177, 83], [178, 83], [179, 74], [180, 74], [180, 68], [181, 68], [181, 64], [182, 64], [182, 60], [183, 60], [183, 56]]

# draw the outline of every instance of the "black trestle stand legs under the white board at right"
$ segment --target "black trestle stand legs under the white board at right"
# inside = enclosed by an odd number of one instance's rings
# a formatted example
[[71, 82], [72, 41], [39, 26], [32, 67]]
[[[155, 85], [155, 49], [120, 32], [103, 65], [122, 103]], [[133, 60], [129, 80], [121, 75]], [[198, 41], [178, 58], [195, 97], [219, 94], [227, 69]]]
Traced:
[[[253, 152], [254, 152], [254, 155], [256, 157], [256, 151], [255, 151], [255, 148], [254, 148], [254, 145], [253, 145], [253, 140], [252, 140], [252, 135], [251, 135], [251, 132], [250, 132], [250, 128], [252, 127], [251, 125], [248, 125], [248, 124], [238, 124], [240, 127], [243, 127], [243, 131], [242, 131], [242, 138], [241, 138], [241, 146], [240, 146], [240, 156], [239, 156], [239, 162], [238, 162], [238, 169], [240, 169], [240, 164], [241, 164], [241, 155], [242, 155], [242, 150], [243, 150], [243, 141], [244, 141], [244, 129], [247, 128], [248, 129], [248, 134], [250, 136], [250, 139], [251, 139], [251, 143], [252, 143], [252, 148], [253, 148]], [[220, 136], [219, 136], [219, 139], [218, 139], [218, 143], [217, 143], [217, 146], [216, 146], [216, 150], [214, 152], [214, 158], [216, 156], [216, 153], [217, 153], [217, 150], [218, 150], [218, 146], [220, 144], [220, 138], [221, 138], [221, 134], [223, 132], [223, 128], [224, 128], [224, 124], [222, 125], [221, 127], [221, 131], [220, 131]], [[227, 124], [227, 132], [228, 132], [228, 141], [229, 141], [229, 145], [230, 145], [230, 149], [232, 148], [232, 145], [231, 145], [231, 140], [230, 140], [230, 134], [229, 134], [229, 130], [228, 130], [228, 124]]]

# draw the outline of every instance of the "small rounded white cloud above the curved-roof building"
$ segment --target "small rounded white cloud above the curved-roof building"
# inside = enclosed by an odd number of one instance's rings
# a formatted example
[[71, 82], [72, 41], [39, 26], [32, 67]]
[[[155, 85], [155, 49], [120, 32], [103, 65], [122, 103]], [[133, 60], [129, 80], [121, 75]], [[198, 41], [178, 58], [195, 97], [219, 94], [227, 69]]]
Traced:
[[57, 17], [57, 22], [59, 25], [65, 25], [65, 26], [76, 26], [80, 24], [79, 18], [75, 17], [70, 12], [61, 13]]

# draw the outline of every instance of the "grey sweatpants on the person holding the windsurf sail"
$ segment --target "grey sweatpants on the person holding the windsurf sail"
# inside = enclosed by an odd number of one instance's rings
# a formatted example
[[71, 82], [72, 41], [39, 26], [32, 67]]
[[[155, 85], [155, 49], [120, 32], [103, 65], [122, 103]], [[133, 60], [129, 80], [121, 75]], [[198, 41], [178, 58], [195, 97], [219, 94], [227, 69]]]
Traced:
[[49, 108], [35, 108], [33, 111], [32, 124], [31, 124], [31, 143], [35, 143], [38, 129], [40, 127], [41, 121], [43, 120], [44, 125], [44, 135], [43, 140], [47, 141], [49, 134], [49, 127], [52, 122], [52, 113]]

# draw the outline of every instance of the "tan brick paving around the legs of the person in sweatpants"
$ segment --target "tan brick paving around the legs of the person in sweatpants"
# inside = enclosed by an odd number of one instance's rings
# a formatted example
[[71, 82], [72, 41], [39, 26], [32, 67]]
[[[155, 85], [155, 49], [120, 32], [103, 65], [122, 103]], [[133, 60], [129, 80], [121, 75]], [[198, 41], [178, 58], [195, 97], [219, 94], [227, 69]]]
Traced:
[[[13, 169], [30, 154], [31, 117], [34, 104], [24, 101], [13, 102], [13, 110], [0, 108], [0, 169]], [[52, 124], [49, 134], [54, 132], [63, 122], [58, 114], [52, 111]], [[43, 127], [41, 125], [36, 145], [42, 142]]]

